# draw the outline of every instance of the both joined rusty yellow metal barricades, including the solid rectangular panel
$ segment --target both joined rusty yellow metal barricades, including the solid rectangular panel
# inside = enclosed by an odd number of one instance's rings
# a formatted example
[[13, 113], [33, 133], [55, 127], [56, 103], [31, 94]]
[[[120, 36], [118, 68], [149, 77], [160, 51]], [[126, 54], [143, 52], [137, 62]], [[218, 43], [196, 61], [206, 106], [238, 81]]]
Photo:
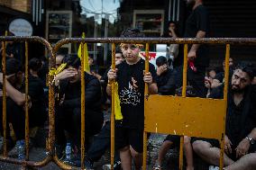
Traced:
[[[48, 138], [48, 155], [41, 162], [29, 161], [29, 117], [28, 117], [28, 42], [39, 41], [45, 45], [50, 53], [50, 68], [55, 67], [55, 57], [58, 49], [67, 43], [81, 43], [81, 67], [84, 68], [84, 43], [112, 43], [112, 68], [115, 68], [114, 55], [115, 44], [117, 43], [141, 43], [146, 44], [146, 62], [145, 71], [149, 72], [149, 47], [150, 44], [156, 43], [178, 43], [185, 44], [184, 46], [184, 69], [183, 69], [183, 88], [182, 96], [160, 96], [157, 94], [149, 94], [149, 87], [145, 84], [145, 124], [144, 124], [144, 137], [143, 137], [143, 169], [146, 169], [146, 153], [147, 153], [147, 133], [167, 133], [182, 136], [180, 139], [179, 151], [179, 169], [183, 166], [183, 136], [203, 137], [209, 139], [218, 139], [221, 142], [221, 158], [220, 168], [223, 167], [224, 157], [224, 124], [225, 124], [225, 111], [227, 107], [227, 82], [229, 73], [229, 57], [231, 44], [256, 44], [256, 39], [238, 39], [238, 38], [219, 38], [219, 39], [169, 39], [169, 38], [67, 38], [59, 40], [54, 47], [50, 46], [47, 40], [40, 37], [0, 37], [3, 52], [3, 73], [5, 79], [5, 41], [25, 41], [25, 56], [26, 56], [26, 159], [17, 160], [14, 158], [6, 157], [6, 95], [5, 95], [5, 81], [3, 84], [3, 126], [5, 149], [4, 156], [0, 157], [0, 161], [19, 164], [32, 167], [41, 167], [47, 165], [50, 161], [55, 162], [62, 169], [84, 169], [85, 165], [85, 73], [81, 71], [81, 167], [68, 166], [62, 163], [56, 156], [54, 150], [55, 144], [55, 112], [54, 112], [54, 85], [49, 85], [49, 138]], [[224, 44], [226, 46], [225, 54], [225, 74], [224, 74], [224, 99], [203, 99], [203, 98], [189, 98], [186, 97], [187, 86], [187, 44]], [[49, 76], [49, 82], [52, 82], [53, 76]], [[111, 114], [111, 166], [114, 169], [114, 82], [112, 82], [112, 114]], [[194, 110], [189, 110], [189, 105], [194, 105]], [[171, 109], [169, 109], [171, 107]], [[187, 113], [189, 112], [189, 113]], [[207, 119], [204, 119], [207, 117]], [[169, 120], [172, 123], [169, 123]]]

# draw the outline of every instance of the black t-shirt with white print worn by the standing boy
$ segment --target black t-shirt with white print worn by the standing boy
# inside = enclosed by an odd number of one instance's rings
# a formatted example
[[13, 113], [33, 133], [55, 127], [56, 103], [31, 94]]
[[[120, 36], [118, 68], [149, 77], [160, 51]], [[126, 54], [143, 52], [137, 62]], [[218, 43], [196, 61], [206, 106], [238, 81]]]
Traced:
[[[123, 127], [142, 129], [144, 127], [144, 81], [145, 61], [140, 59], [136, 64], [126, 62], [116, 66], [118, 94], [123, 114]], [[150, 64], [153, 82], [156, 82], [155, 67]]]

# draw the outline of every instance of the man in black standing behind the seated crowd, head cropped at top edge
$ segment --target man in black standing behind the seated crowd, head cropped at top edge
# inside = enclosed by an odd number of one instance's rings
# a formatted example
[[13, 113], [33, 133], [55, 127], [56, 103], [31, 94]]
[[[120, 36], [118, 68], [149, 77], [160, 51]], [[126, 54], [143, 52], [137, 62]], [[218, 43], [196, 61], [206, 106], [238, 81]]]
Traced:
[[[187, 6], [192, 13], [187, 18], [184, 38], [207, 38], [209, 20], [206, 7], [202, 0], [187, 0]], [[187, 53], [187, 81], [192, 85], [198, 97], [205, 97], [206, 67], [209, 65], [206, 45], [193, 44], [188, 47]], [[182, 77], [182, 67], [178, 68], [179, 77]], [[181, 86], [181, 80], [178, 85]]]

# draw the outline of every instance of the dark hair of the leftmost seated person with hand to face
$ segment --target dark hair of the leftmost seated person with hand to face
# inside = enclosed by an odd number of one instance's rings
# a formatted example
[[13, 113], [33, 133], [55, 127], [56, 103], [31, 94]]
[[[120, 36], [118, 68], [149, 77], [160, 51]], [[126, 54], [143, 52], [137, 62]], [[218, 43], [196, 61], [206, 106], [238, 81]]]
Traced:
[[23, 72], [23, 66], [18, 59], [9, 58], [6, 60], [6, 76], [16, 74], [20, 71]]

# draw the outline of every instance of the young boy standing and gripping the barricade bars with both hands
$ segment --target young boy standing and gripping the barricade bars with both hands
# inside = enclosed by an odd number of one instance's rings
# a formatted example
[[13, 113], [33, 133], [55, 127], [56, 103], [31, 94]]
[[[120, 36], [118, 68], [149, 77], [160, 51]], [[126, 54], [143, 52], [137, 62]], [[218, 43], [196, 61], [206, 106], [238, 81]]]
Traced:
[[[137, 29], [122, 32], [123, 38], [139, 38], [144, 35]], [[108, 81], [118, 83], [122, 121], [115, 121], [115, 145], [120, 150], [123, 170], [132, 169], [132, 157], [136, 169], [142, 166], [143, 127], [144, 127], [144, 83], [149, 84], [149, 93], [157, 94], [156, 71], [150, 64], [150, 72], [144, 73], [145, 61], [139, 57], [140, 44], [121, 44], [125, 61], [116, 69], [110, 69]], [[111, 85], [106, 87], [111, 94]]]

